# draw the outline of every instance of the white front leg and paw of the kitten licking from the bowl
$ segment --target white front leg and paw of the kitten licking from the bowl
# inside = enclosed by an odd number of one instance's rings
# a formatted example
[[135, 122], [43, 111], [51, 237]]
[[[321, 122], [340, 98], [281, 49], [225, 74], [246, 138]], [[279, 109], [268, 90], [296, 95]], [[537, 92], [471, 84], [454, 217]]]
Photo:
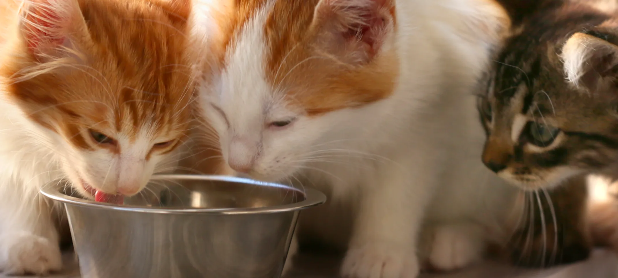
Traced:
[[20, 192], [19, 186], [2, 189], [0, 269], [12, 275], [59, 271], [62, 256], [51, 203], [36, 193]]

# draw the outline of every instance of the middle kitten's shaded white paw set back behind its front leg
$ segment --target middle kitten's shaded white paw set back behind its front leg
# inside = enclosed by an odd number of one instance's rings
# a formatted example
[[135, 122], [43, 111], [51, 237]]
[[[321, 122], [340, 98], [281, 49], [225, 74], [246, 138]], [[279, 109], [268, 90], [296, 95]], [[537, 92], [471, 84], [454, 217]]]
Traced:
[[430, 264], [440, 271], [451, 271], [479, 261], [485, 244], [476, 227], [444, 225], [436, 228]]

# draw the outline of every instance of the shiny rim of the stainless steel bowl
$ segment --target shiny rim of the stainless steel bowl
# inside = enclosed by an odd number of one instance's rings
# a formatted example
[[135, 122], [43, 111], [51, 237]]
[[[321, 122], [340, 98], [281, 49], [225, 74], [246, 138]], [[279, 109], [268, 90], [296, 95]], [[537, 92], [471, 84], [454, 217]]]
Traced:
[[281, 185], [272, 182], [260, 182], [258, 180], [245, 179], [241, 177], [230, 177], [226, 175], [193, 175], [193, 174], [161, 174], [153, 175], [151, 180], [216, 180], [222, 182], [247, 183], [252, 185], [263, 185], [268, 187], [289, 188], [305, 195], [305, 200], [282, 204], [278, 206], [266, 206], [262, 208], [161, 208], [151, 206], [132, 206], [101, 203], [74, 196], [65, 195], [60, 192], [59, 187], [43, 187], [40, 192], [52, 200], [59, 201], [66, 205], [83, 206], [88, 208], [111, 209], [117, 211], [130, 211], [135, 213], [156, 213], [156, 214], [265, 214], [283, 213], [287, 211], [298, 211], [300, 209], [311, 208], [326, 202], [326, 195], [313, 188], [305, 188], [305, 191], [298, 188]]

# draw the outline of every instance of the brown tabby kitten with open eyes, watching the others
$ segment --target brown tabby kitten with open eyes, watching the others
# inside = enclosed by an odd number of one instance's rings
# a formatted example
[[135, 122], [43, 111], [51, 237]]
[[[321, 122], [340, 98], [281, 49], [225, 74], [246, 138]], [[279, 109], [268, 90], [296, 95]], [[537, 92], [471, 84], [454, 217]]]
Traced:
[[[586, 211], [585, 175], [618, 170], [618, 14], [599, 2], [548, 0], [521, 19], [481, 96], [483, 162], [541, 197], [531, 199], [530, 215], [545, 217], [519, 230], [511, 245], [512, 259], [525, 266], [586, 258], [586, 226], [593, 225], [595, 237], [601, 224], [603, 235], [618, 227], [618, 214], [600, 221], [598, 211]], [[560, 226], [548, 219], [554, 214]], [[543, 242], [544, 236], [558, 240]], [[561, 254], [548, 251], [554, 248]]]

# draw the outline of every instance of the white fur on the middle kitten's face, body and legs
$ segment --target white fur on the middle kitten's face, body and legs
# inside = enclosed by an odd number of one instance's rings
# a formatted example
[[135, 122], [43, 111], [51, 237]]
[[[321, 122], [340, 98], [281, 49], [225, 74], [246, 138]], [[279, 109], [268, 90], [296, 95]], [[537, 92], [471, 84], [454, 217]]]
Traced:
[[[429, 259], [442, 269], [472, 263], [489, 240], [504, 235], [515, 189], [481, 163], [485, 136], [472, 92], [500, 29], [487, 7], [396, 1], [398, 32], [383, 49], [397, 51], [400, 82], [390, 98], [357, 109], [309, 118], [286, 107], [264, 78], [268, 5], [245, 25], [227, 67], [203, 85], [203, 110], [228, 162], [252, 161], [256, 179], [299, 180], [329, 193], [325, 208], [332, 211], [314, 222], [353, 208], [345, 277], [416, 277], [423, 223], [436, 228]], [[268, 128], [289, 117], [297, 118], [290, 127]], [[239, 140], [253, 148], [232, 150]], [[312, 229], [337, 233], [326, 226]]]

